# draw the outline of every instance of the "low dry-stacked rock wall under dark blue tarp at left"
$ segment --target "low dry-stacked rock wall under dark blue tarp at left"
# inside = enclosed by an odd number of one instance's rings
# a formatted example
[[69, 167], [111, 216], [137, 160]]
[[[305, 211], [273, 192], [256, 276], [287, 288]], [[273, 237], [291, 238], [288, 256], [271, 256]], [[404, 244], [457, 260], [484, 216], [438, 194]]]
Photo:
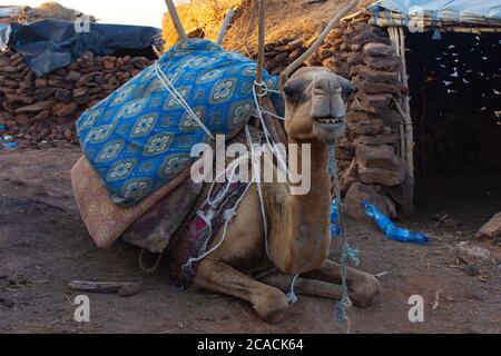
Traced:
[[94, 57], [37, 78], [19, 53], [0, 52], [0, 134], [20, 147], [77, 142], [81, 112], [109, 96], [151, 61], [144, 57]]

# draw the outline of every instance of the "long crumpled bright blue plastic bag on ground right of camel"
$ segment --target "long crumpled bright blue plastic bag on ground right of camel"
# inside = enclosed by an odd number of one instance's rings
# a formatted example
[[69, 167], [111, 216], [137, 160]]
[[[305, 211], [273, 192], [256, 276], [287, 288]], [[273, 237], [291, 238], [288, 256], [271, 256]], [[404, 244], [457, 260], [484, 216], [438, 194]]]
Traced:
[[365, 208], [365, 214], [374, 220], [377, 227], [386, 235], [389, 239], [413, 244], [430, 243], [430, 238], [423, 233], [415, 233], [400, 228], [369, 201], [364, 200], [362, 204]]

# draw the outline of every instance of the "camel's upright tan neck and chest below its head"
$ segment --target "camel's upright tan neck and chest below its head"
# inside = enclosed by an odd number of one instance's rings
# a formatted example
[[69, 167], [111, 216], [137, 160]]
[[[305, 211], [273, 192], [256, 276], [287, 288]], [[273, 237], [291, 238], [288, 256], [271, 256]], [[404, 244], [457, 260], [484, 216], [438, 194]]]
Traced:
[[[289, 141], [289, 144], [295, 144]], [[273, 236], [277, 249], [277, 266], [284, 273], [304, 273], [323, 266], [331, 246], [331, 180], [327, 174], [328, 146], [311, 144], [311, 157], [298, 145], [298, 167], [303, 160], [311, 161], [311, 189], [305, 195], [293, 195], [288, 199], [289, 228]], [[285, 221], [283, 221], [285, 222]], [[275, 258], [274, 258], [275, 259]]]

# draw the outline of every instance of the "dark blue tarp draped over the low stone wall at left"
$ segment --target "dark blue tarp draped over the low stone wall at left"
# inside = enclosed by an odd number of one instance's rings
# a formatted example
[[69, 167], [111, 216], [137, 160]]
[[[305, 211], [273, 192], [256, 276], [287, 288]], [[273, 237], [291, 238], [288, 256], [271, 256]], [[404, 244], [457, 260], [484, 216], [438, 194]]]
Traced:
[[14, 22], [11, 28], [9, 46], [23, 55], [37, 76], [66, 67], [87, 51], [107, 56], [118, 50], [150, 48], [161, 32], [153, 27], [101, 23], [89, 23], [88, 31], [77, 31], [75, 22], [59, 20]]

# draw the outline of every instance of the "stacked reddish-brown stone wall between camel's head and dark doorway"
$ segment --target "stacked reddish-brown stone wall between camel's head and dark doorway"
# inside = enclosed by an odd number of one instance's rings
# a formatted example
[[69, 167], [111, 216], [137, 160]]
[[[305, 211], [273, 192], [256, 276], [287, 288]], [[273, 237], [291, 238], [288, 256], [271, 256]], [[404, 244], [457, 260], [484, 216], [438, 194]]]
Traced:
[[356, 88], [346, 116], [347, 137], [337, 149], [345, 211], [367, 220], [361, 201], [369, 200], [396, 217], [397, 207], [406, 204], [400, 188], [407, 176], [399, 155], [402, 118], [393, 109], [402, 91], [401, 60], [387, 34], [366, 23], [333, 30], [317, 57]]

